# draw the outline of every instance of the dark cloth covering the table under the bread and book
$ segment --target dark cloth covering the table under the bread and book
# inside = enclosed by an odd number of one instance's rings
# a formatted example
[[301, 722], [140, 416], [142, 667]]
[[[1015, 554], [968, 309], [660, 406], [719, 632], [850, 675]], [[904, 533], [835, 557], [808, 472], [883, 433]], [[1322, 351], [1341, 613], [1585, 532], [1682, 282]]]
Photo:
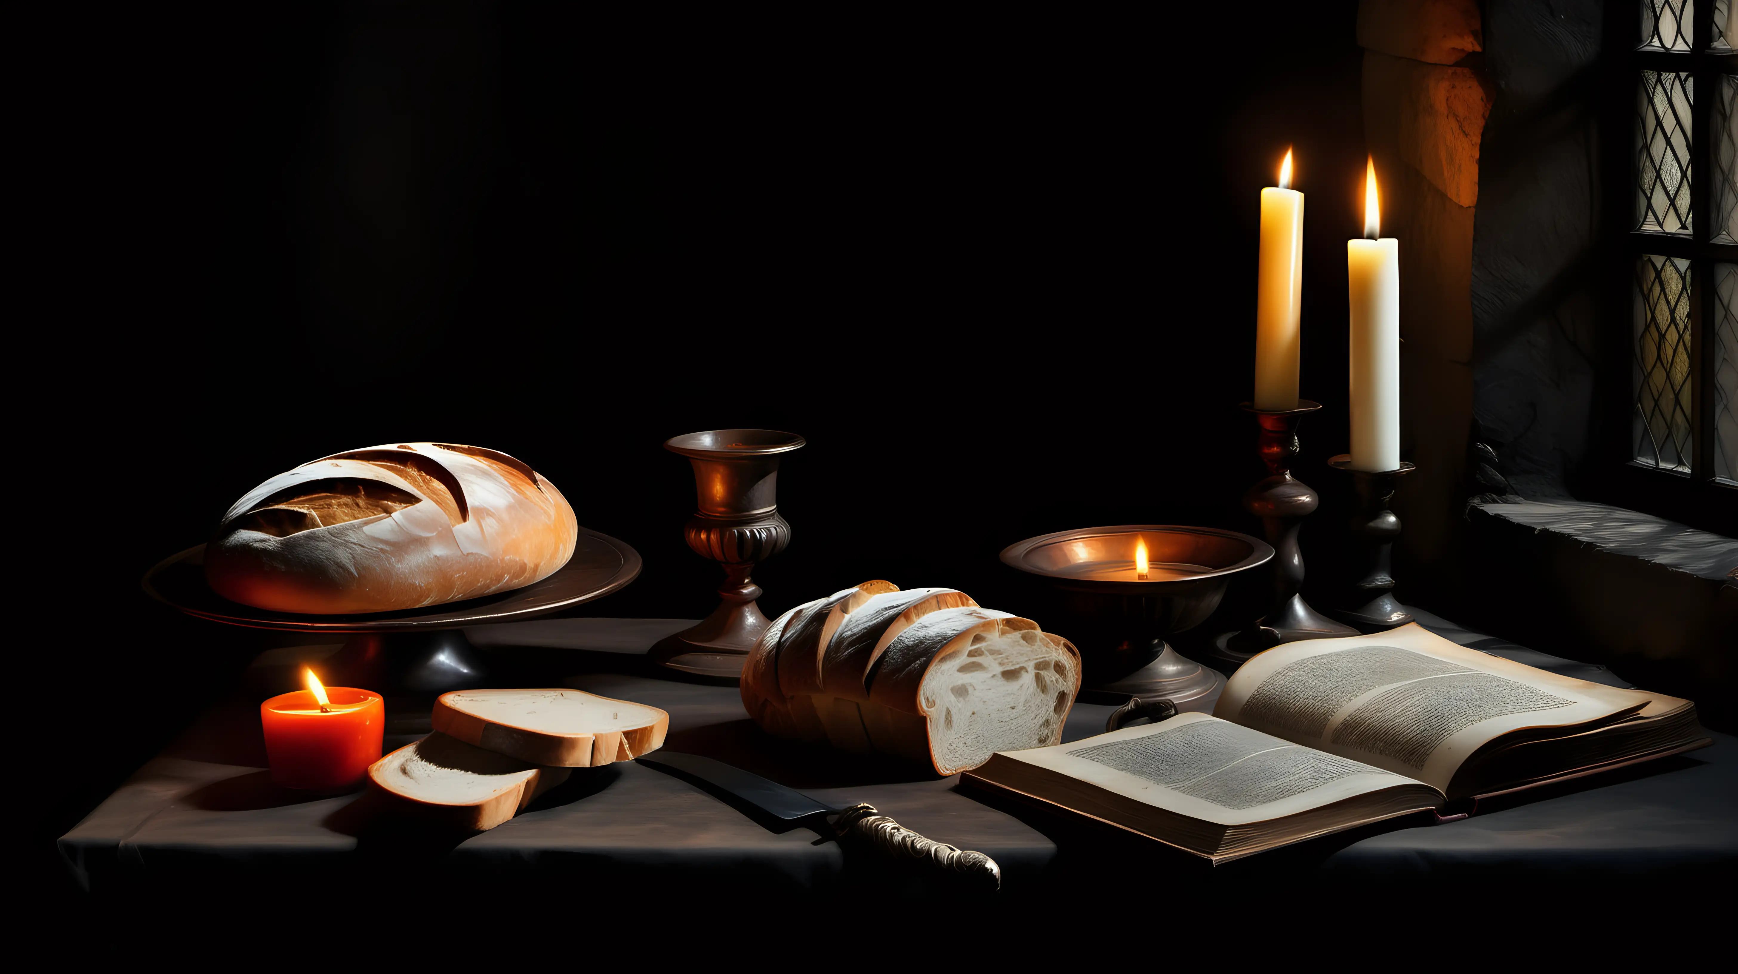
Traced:
[[[1425, 621], [1467, 645], [1608, 684], [1585, 666]], [[707, 753], [817, 798], [871, 802], [942, 842], [977, 849], [1003, 868], [1001, 903], [1053, 901], [1062, 891], [1151, 892], [1180, 877], [1199, 910], [1255, 896], [1354, 887], [1420, 903], [1449, 889], [1583, 894], [1637, 889], [1722, 889], [1738, 866], [1738, 746], [1715, 746], [1540, 790], [1465, 821], [1343, 833], [1220, 868], [1104, 835], [1038, 809], [982, 798], [954, 779], [885, 767], [763, 736], [733, 687], [650, 677], [638, 654], [683, 628], [673, 619], [558, 619], [473, 630], [509, 671], [671, 713], [669, 750]], [[577, 650], [589, 647], [587, 650]], [[756, 897], [827, 903], [859, 884], [905, 882], [878, 873], [834, 842], [798, 828], [773, 831], [711, 793], [640, 764], [577, 771], [513, 821], [468, 837], [407, 833], [365, 795], [309, 797], [275, 788], [264, 771], [257, 701], [294, 685], [294, 666], [332, 647], [266, 652], [250, 685], [207, 713], [174, 746], [59, 840], [85, 889], [123, 903], [222, 899], [236, 891], [332, 889], [334, 884], [471, 884], [487, 896], [553, 889], [681, 891], [726, 906]], [[1065, 739], [1104, 729], [1111, 706], [1079, 704]], [[426, 711], [424, 711], [426, 713]], [[424, 727], [403, 715], [388, 748]], [[426, 717], [422, 718], [426, 722]], [[1637, 885], [1644, 884], [1644, 885]], [[919, 896], [912, 887], [904, 894]], [[511, 891], [511, 892], [507, 892]], [[478, 894], [487, 897], [485, 894]], [[1091, 899], [1088, 896], [1086, 899]], [[1171, 906], [1170, 910], [1178, 910]]]

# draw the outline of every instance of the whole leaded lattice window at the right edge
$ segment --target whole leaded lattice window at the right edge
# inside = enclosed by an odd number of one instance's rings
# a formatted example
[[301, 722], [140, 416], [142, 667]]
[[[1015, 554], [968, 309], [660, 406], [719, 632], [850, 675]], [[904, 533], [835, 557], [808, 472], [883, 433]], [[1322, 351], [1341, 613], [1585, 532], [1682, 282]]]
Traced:
[[1738, 0], [1639, 0], [1635, 466], [1738, 485]]

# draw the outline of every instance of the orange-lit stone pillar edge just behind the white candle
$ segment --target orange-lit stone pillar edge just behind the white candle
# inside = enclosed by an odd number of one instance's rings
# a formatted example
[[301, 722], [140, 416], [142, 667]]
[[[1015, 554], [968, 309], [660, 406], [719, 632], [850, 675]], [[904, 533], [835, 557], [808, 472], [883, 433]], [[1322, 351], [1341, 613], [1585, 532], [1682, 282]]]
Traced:
[[1401, 242], [1403, 600], [1460, 597], [1472, 428], [1472, 238], [1491, 111], [1474, 0], [1363, 0], [1364, 139], [1382, 186], [1382, 235]]

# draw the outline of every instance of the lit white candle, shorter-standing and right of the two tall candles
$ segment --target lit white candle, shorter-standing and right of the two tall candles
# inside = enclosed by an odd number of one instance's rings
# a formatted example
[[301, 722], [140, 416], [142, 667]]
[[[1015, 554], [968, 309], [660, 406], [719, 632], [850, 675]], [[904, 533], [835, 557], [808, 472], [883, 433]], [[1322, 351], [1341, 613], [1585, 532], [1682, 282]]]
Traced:
[[1401, 466], [1401, 242], [1382, 238], [1376, 163], [1364, 172], [1364, 237], [1347, 240], [1352, 308], [1352, 470]]

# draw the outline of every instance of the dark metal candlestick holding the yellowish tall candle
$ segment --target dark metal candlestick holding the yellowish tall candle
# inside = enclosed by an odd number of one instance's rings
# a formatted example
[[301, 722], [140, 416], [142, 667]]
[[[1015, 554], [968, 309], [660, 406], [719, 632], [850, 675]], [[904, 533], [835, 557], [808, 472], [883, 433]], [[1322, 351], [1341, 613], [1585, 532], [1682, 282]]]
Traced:
[[1246, 630], [1213, 638], [1213, 659], [1231, 670], [1283, 642], [1357, 635], [1357, 630], [1323, 616], [1298, 595], [1304, 588], [1298, 529], [1305, 517], [1316, 513], [1321, 497], [1309, 484], [1291, 477], [1291, 463], [1302, 449], [1298, 424], [1317, 409], [1321, 404], [1307, 398], [1300, 398], [1297, 409], [1255, 409], [1253, 404], [1243, 404], [1243, 410], [1253, 414], [1262, 426], [1257, 450], [1267, 464], [1267, 477], [1243, 494], [1243, 510], [1262, 518], [1267, 543], [1274, 546], [1274, 562], [1269, 565], [1272, 597], [1267, 612]]

